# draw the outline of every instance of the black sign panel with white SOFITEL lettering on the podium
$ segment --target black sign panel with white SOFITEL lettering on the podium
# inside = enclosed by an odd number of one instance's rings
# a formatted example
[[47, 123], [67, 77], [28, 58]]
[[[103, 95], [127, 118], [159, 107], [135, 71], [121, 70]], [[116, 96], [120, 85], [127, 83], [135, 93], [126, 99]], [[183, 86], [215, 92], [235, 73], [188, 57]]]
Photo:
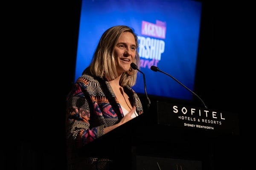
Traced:
[[236, 113], [157, 102], [157, 123], [185, 128], [197, 128], [222, 133], [239, 133]]

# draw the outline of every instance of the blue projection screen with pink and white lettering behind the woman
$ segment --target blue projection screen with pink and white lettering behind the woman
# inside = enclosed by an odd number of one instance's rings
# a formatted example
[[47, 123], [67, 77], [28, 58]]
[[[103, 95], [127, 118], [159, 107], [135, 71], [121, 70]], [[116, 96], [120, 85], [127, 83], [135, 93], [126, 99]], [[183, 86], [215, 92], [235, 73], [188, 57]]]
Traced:
[[[82, 0], [75, 80], [89, 65], [103, 32], [127, 25], [138, 35], [140, 71], [147, 94], [192, 100], [193, 94], [174, 79], [150, 69], [157, 66], [194, 90], [201, 23], [201, 1], [195, 0]], [[143, 74], [133, 89], [145, 94]]]

